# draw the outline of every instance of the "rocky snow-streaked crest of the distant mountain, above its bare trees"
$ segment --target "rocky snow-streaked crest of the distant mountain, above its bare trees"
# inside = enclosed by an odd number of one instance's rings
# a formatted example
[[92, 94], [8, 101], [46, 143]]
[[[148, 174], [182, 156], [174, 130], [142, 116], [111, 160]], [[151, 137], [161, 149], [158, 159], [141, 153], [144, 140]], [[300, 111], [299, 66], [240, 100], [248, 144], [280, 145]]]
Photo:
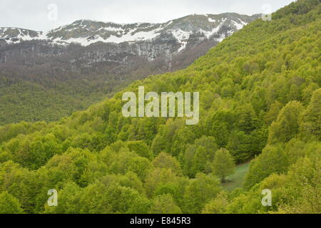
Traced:
[[47, 32], [0, 27], [0, 39], [9, 44], [30, 40], [47, 40], [57, 44], [79, 43], [82, 46], [88, 46], [99, 41], [103, 43], [151, 41], [162, 34], [170, 34], [180, 43], [178, 51], [181, 51], [188, 43], [191, 34], [199, 33], [203, 35], [203, 38], [215, 36], [215, 39], [222, 41], [223, 38], [243, 28], [259, 16], [258, 14], [253, 16], [194, 14], [163, 24], [116, 24], [78, 20]]

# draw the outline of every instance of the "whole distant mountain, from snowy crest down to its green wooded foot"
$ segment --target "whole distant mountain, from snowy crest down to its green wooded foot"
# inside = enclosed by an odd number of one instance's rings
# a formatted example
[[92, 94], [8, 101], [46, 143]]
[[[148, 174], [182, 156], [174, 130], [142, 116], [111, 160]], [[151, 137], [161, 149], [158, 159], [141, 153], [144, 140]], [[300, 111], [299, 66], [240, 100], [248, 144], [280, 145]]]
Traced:
[[48, 32], [0, 28], [0, 125], [58, 120], [132, 81], [185, 68], [259, 17], [190, 15], [164, 24], [80, 20]]

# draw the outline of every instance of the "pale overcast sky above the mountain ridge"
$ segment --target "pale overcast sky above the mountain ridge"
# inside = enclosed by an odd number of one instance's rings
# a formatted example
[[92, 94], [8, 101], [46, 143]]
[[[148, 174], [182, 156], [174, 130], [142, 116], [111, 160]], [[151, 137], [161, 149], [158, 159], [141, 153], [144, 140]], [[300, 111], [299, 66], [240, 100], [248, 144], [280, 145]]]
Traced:
[[[47, 31], [77, 19], [166, 22], [189, 14], [265, 13], [293, 0], [0, 0], [0, 27]], [[56, 10], [57, 9], [57, 10]]]

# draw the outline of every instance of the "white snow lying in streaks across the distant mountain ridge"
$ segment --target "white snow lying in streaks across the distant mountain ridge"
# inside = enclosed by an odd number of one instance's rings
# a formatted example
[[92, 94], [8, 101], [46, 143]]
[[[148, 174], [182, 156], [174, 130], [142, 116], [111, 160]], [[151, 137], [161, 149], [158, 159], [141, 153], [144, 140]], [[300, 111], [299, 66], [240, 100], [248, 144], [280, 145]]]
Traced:
[[[220, 24], [213, 28], [210, 31], [205, 31], [203, 29], [200, 29], [200, 33], [204, 34], [204, 38], [210, 38], [215, 33], [217, 34], [218, 31], [220, 31], [221, 26], [223, 26], [224, 22], [227, 21], [227, 18], [221, 18], [221, 19], [214, 19], [212, 15], [204, 14], [208, 18], [208, 21], [211, 23], [219, 22]], [[212, 17], [212, 18], [211, 18]], [[19, 43], [20, 41], [30, 41], [30, 40], [49, 40], [51, 43], [56, 43], [59, 45], [67, 45], [68, 43], [79, 43], [81, 46], [88, 46], [92, 43], [96, 42], [103, 42], [103, 43], [123, 43], [123, 42], [136, 42], [136, 41], [148, 41], [152, 40], [153, 38], [156, 38], [161, 34], [161, 31], [167, 31], [168, 33], [172, 33], [175, 39], [180, 43], [180, 48], [178, 49], [178, 52], [185, 49], [186, 45], [188, 44], [188, 39], [190, 38], [190, 35], [193, 33], [193, 31], [183, 31], [180, 28], [167, 28], [170, 26], [170, 24], [173, 24], [173, 21], [168, 21], [164, 24], [158, 24], [157, 28], [153, 28], [153, 26], [156, 26], [156, 24], [146, 24], [146, 23], [135, 23], [135, 24], [115, 24], [115, 23], [109, 23], [105, 24], [103, 26], [99, 26], [98, 28], [94, 29], [93, 31], [88, 29], [88, 26], [86, 25], [86, 20], [79, 20], [73, 22], [73, 24], [69, 24], [66, 26], [60, 26], [59, 28], [56, 28], [54, 30], [51, 30], [49, 32], [35, 32], [29, 31], [26, 29], [19, 29], [19, 28], [0, 28], [2, 29], [0, 34], [0, 38], [9, 38], [7, 40], [8, 43]], [[143, 26], [144, 24], [144, 26]], [[232, 21], [232, 24], [237, 28], [243, 28], [247, 23], [243, 22], [240, 19], [236, 19], [235, 21]], [[132, 27], [132, 28], [129, 28]], [[68, 29], [67, 29], [68, 28]], [[83, 28], [84, 30], [88, 31], [88, 35], [85, 35], [84, 37], [78, 37], [78, 38], [68, 38], [64, 39], [63, 36], [59, 36], [58, 38], [51, 38], [49, 35], [53, 36], [51, 33], [56, 33], [59, 31], [63, 31], [64, 33], [71, 32], [77, 28]], [[6, 35], [4, 36], [4, 33], [8, 29], [14, 29], [16, 31], [19, 31], [19, 35], [15, 36], [16, 40], [13, 38], [11, 41], [11, 37]], [[29, 32], [32, 34], [30, 35]], [[233, 33], [234, 31], [231, 30], [230, 33]], [[110, 35], [112, 33], [112, 35]], [[228, 34], [230, 34], [228, 33]], [[34, 37], [32, 37], [34, 36]], [[56, 35], [55, 35], [56, 37]], [[215, 38], [217, 41], [223, 41], [225, 37]]]

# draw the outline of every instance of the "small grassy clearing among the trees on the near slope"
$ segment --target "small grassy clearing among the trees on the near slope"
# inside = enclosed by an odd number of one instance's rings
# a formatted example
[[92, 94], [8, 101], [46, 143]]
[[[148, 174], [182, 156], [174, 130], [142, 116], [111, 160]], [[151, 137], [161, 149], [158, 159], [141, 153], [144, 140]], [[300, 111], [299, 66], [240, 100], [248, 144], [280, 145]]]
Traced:
[[226, 178], [226, 182], [223, 183], [223, 188], [228, 191], [232, 191], [237, 187], [242, 187], [246, 172], [250, 167], [250, 162], [238, 165], [235, 169], [235, 173]]

